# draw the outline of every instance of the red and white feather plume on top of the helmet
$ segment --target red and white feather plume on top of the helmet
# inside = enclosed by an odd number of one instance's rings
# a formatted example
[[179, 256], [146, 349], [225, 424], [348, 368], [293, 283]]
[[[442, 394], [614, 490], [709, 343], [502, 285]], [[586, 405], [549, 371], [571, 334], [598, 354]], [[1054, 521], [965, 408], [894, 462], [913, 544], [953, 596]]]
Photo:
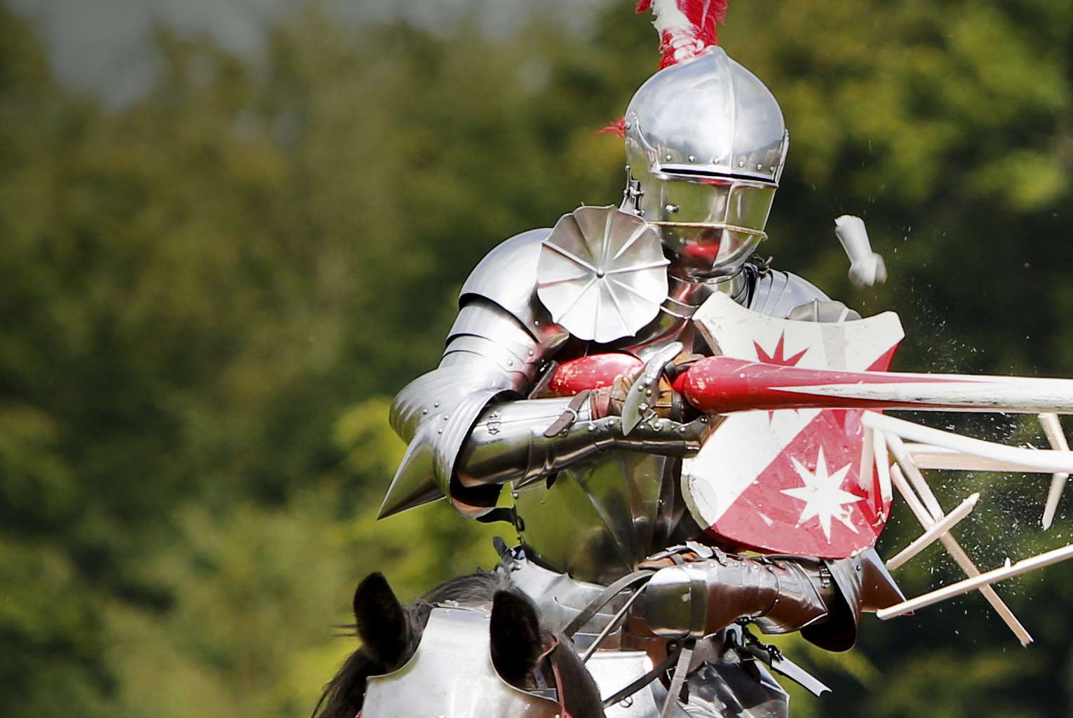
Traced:
[[637, 12], [651, 10], [660, 33], [660, 70], [696, 57], [719, 42], [716, 25], [726, 15], [726, 0], [637, 0]]

